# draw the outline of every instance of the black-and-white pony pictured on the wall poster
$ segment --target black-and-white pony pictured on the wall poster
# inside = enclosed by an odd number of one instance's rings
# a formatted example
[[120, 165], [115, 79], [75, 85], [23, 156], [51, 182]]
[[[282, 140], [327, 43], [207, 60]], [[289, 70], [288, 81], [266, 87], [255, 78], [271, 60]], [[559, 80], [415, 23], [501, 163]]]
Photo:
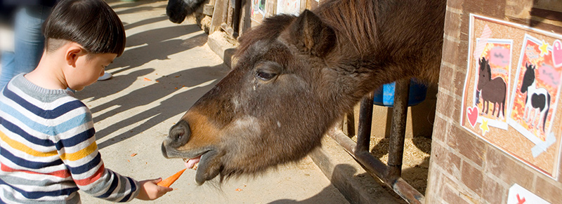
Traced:
[[[547, 117], [550, 109], [550, 94], [545, 88], [537, 87], [537, 80], [535, 80], [535, 69], [536, 65], [525, 63], [525, 74], [523, 74], [523, 81], [521, 83], [521, 94], [527, 93], [525, 96], [525, 112], [523, 113], [523, 118], [525, 122], [530, 123], [531, 126], [535, 124], [535, 119], [537, 114], [540, 114], [542, 118], [542, 132], [544, 132], [544, 126], [547, 123]], [[531, 116], [531, 110], [535, 111], [535, 114]], [[525, 117], [526, 116], [526, 117]], [[532, 117], [532, 121], [531, 121]], [[537, 121], [535, 128], [539, 128], [540, 121]]]

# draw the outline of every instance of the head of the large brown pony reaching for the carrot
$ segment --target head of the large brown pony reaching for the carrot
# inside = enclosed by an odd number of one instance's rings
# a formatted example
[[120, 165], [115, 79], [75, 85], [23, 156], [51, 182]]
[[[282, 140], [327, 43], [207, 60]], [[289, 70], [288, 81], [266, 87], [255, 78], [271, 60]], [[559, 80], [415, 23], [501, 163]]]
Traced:
[[334, 31], [311, 11], [268, 18], [239, 41], [235, 67], [162, 144], [166, 158], [199, 159], [198, 184], [299, 161], [358, 100], [339, 95], [353, 82], [326, 68]]

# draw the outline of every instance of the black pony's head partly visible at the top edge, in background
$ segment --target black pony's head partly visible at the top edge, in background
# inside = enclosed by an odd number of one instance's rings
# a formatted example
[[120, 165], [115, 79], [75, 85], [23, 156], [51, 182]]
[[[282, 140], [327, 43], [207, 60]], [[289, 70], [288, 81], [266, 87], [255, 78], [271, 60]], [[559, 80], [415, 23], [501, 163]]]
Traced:
[[171, 22], [181, 23], [185, 17], [194, 13], [205, 0], [168, 0], [166, 15]]

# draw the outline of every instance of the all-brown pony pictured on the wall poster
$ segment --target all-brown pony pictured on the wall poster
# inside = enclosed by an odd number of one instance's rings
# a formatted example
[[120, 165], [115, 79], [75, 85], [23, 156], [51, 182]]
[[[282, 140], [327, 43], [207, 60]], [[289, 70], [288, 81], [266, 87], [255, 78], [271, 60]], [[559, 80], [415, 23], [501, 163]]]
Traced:
[[478, 64], [480, 65], [480, 72], [478, 72], [478, 85], [476, 86], [476, 89], [478, 90], [478, 93], [481, 93], [482, 95], [482, 113], [488, 114], [491, 102], [492, 104], [494, 104], [492, 116], [495, 114], [497, 104], [498, 107], [496, 117], [499, 118], [500, 112], [502, 113], [502, 116], [505, 117], [505, 98], [507, 86], [504, 79], [499, 76], [492, 79], [490, 60], [486, 60], [485, 57], [478, 59]]

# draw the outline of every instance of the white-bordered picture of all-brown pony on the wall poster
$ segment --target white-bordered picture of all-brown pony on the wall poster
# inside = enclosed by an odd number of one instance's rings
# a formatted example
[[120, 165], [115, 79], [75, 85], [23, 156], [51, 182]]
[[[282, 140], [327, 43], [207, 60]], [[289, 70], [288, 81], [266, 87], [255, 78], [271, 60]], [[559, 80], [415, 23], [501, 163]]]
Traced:
[[[476, 39], [476, 44], [482, 39]], [[473, 107], [478, 108], [476, 123], [507, 130], [507, 99], [511, 73], [512, 40], [487, 39], [474, 63]]]

